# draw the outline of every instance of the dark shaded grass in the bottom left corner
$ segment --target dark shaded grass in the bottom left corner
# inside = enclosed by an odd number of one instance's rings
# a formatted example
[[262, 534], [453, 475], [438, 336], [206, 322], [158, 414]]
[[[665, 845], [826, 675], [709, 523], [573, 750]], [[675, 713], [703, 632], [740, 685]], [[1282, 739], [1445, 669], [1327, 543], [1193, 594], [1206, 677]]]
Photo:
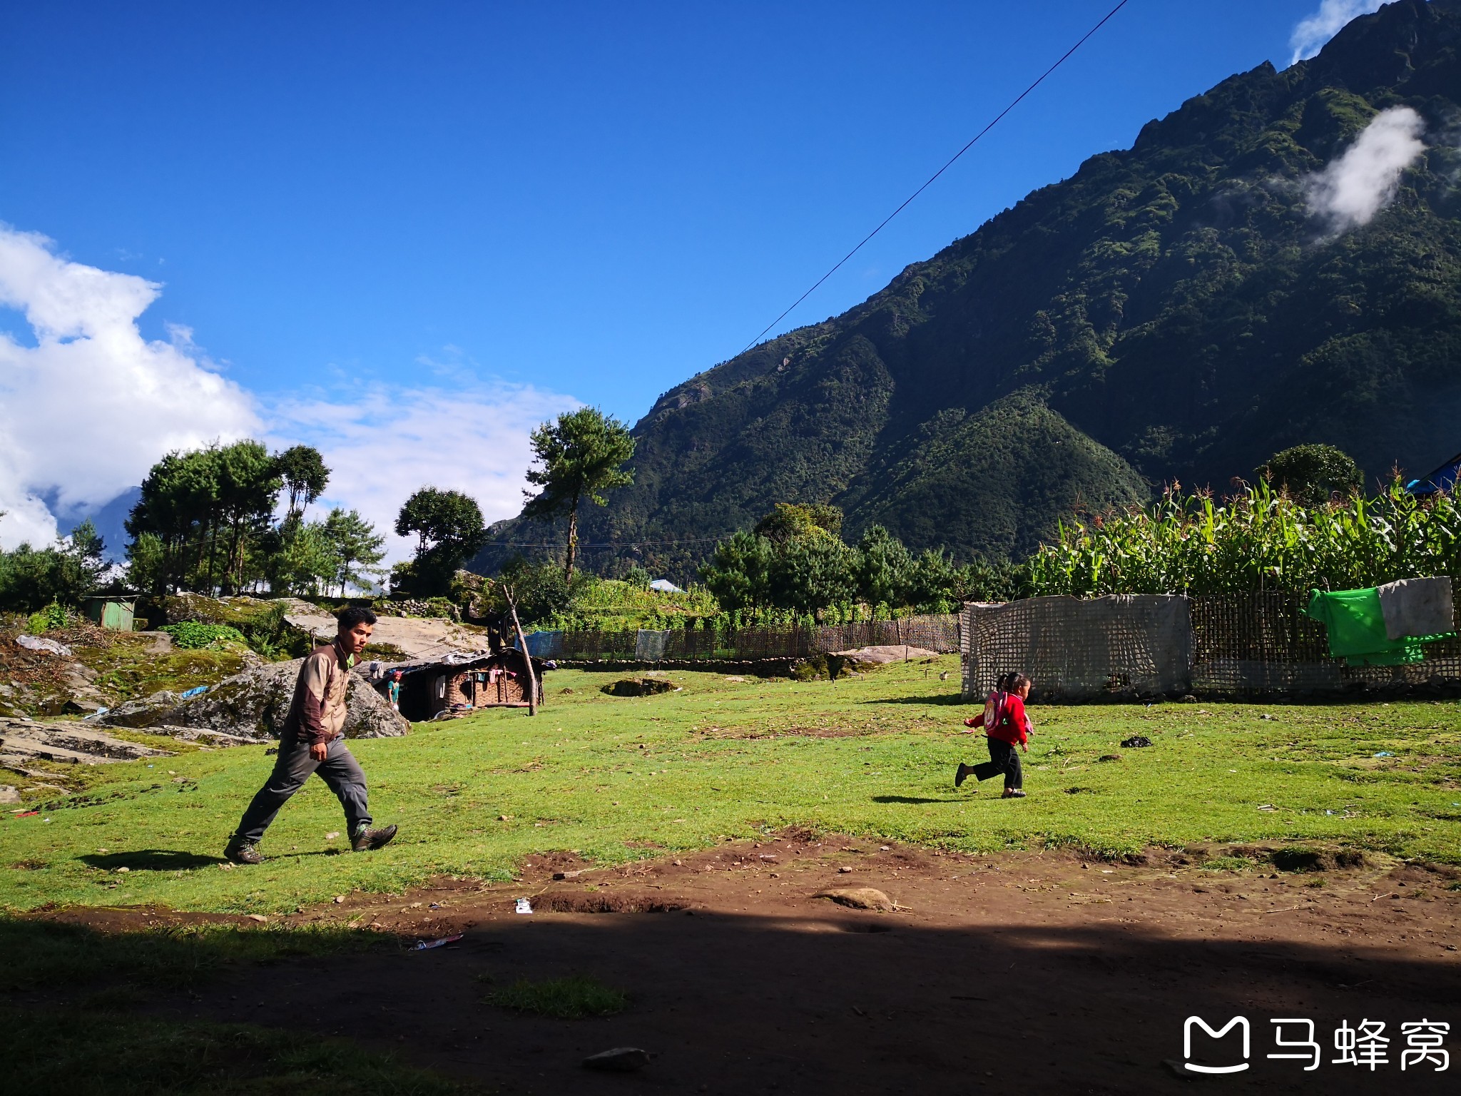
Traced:
[[[224, 972], [400, 941], [342, 928], [194, 924], [98, 931], [0, 916], [0, 1061], [6, 1092], [67, 1096], [456, 1096], [482, 1092], [318, 1032], [137, 1016], [158, 995]], [[358, 959], [352, 962], [359, 962]], [[22, 1007], [6, 991], [44, 991]], [[377, 1043], [378, 1046], [378, 1043]]]

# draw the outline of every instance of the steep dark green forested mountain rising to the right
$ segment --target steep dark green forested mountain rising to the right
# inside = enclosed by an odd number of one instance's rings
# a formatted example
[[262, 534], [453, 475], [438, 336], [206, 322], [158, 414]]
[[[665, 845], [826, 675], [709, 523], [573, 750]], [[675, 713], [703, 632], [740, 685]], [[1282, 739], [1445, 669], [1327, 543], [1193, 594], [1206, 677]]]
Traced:
[[[1461, 0], [1392, 3], [691, 377], [634, 427], [636, 482], [583, 539], [716, 536], [830, 501], [850, 535], [1023, 555], [1072, 507], [1221, 488], [1292, 444], [1340, 446], [1370, 482], [1427, 471], [1461, 449], [1458, 44]], [[1424, 149], [1394, 199], [1366, 224], [1318, 216], [1316, 172], [1398, 107]], [[638, 558], [688, 577], [709, 548]]]

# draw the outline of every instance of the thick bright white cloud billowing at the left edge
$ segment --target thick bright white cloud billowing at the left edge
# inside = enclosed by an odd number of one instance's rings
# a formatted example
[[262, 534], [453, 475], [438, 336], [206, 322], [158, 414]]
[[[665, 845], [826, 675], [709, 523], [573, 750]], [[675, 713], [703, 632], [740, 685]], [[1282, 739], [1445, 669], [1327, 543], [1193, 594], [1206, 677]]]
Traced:
[[0, 224], [0, 305], [25, 314], [35, 342], [0, 332], [0, 545], [56, 536], [42, 498], [60, 513], [98, 507], [171, 449], [259, 430], [253, 399], [190, 332], [142, 338], [159, 291]]

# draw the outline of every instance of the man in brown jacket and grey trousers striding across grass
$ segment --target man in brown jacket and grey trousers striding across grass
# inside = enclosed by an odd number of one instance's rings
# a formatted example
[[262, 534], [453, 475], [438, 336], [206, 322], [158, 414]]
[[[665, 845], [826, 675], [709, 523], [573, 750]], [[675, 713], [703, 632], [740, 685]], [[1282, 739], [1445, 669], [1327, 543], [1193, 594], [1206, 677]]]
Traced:
[[279, 757], [264, 786], [254, 795], [238, 831], [228, 840], [224, 855], [234, 864], [259, 864], [259, 842], [269, 823], [289, 796], [298, 792], [310, 773], [318, 773], [345, 808], [345, 824], [355, 852], [378, 849], [396, 836], [394, 826], [373, 830], [365, 802], [365, 773], [345, 748], [345, 693], [355, 656], [365, 650], [375, 627], [370, 609], [348, 608], [336, 617], [335, 642], [316, 647], [300, 666], [294, 701], [279, 735]]

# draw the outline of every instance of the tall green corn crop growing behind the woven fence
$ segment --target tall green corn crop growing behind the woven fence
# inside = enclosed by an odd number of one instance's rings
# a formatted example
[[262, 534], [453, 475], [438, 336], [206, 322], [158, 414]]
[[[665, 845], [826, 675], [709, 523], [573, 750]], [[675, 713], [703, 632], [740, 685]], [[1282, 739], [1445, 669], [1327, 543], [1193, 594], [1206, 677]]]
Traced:
[[1062, 525], [1030, 558], [1031, 595], [1357, 589], [1461, 577], [1461, 506], [1397, 481], [1373, 498], [1305, 506], [1256, 484], [1233, 498], [1167, 490], [1148, 507]]

